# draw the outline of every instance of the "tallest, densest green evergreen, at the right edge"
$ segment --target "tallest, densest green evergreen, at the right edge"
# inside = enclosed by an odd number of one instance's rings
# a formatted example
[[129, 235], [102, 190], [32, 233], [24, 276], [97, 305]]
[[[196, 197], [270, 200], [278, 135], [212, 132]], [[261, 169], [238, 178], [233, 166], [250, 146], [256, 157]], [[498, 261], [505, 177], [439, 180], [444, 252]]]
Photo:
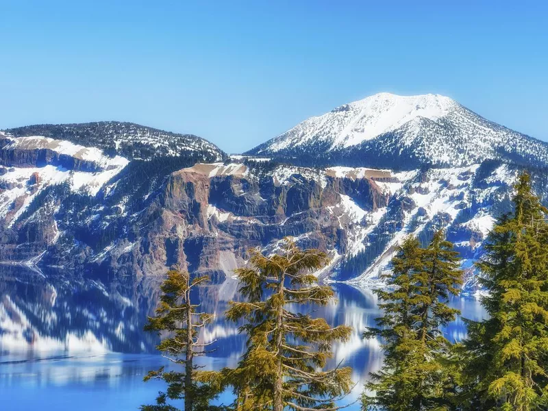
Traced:
[[489, 318], [468, 322], [463, 370], [463, 402], [476, 410], [548, 409], [548, 210], [526, 173], [513, 203], [477, 264]]

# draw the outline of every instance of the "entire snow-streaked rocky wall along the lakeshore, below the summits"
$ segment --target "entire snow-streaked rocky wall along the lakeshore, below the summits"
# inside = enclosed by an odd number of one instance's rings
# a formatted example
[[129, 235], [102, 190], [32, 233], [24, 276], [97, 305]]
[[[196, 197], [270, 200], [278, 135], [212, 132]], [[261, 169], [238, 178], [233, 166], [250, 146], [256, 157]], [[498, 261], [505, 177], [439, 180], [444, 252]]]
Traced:
[[[521, 172], [496, 161], [405, 172], [129, 161], [51, 138], [0, 140], [0, 262], [129, 283], [171, 267], [221, 282], [249, 249], [292, 236], [328, 253], [319, 275], [377, 284], [405, 236], [426, 244], [443, 228], [473, 289], [473, 262]], [[547, 173], [532, 175], [547, 203]]]

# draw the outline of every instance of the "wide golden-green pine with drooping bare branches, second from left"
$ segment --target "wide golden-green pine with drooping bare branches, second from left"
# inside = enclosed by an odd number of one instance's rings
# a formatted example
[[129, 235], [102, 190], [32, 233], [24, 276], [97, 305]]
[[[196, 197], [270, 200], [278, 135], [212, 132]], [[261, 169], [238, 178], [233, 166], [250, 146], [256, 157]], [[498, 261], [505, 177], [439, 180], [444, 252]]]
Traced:
[[327, 262], [324, 253], [299, 249], [285, 239], [282, 253], [253, 251], [251, 267], [237, 269], [245, 302], [232, 302], [227, 319], [244, 321], [247, 351], [238, 367], [225, 370], [234, 387], [237, 410], [336, 410], [334, 401], [351, 389], [351, 369], [323, 370], [332, 343], [345, 341], [351, 329], [330, 327], [324, 319], [292, 311], [297, 306], [327, 305], [329, 286], [319, 286], [311, 271]]

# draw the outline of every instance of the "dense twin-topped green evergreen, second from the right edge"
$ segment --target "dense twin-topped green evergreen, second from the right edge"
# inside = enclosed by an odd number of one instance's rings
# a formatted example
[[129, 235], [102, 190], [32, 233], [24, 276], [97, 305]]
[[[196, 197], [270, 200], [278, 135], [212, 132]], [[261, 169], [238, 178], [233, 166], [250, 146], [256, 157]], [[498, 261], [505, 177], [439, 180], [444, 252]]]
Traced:
[[449, 410], [454, 389], [447, 366], [451, 343], [440, 327], [459, 313], [447, 306], [458, 295], [462, 271], [458, 254], [444, 233], [426, 249], [408, 237], [385, 275], [388, 290], [375, 290], [384, 315], [364, 338], [381, 337], [384, 365], [371, 373], [362, 395], [363, 410]]

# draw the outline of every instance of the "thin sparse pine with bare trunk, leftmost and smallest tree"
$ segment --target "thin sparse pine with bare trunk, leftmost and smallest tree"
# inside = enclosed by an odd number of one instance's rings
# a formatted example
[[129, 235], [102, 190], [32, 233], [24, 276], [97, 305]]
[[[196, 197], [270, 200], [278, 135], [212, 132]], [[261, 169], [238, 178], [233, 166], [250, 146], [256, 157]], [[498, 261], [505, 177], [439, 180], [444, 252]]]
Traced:
[[146, 331], [168, 333], [158, 347], [164, 357], [184, 366], [184, 372], [150, 371], [145, 382], [152, 378], [162, 379], [168, 384], [166, 392], [160, 392], [155, 405], [141, 406], [143, 411], [177, 411], [175, 406], [167, 403], [168, 400], [184, 399], [185, 411], [219, 410], [210, 406], [222, 390], [220, 374], [214, 371], [203, 371], [194, 362], [196, 356], [203, 356], [210, 352], [205, 351], [208, 345], [199, 344], [198, 330], [212, 320], [212, 314], [197, 312], [198, 307], [192, 304], [190, 293], [192, 288], [208, 281], [208, 277], [190, 279], [187, 272], [169, 271], [167, 279], [161, 286], [162, 296], [160, 307], [156, 310], [157, 316], [149, 317], [145, 325]]

